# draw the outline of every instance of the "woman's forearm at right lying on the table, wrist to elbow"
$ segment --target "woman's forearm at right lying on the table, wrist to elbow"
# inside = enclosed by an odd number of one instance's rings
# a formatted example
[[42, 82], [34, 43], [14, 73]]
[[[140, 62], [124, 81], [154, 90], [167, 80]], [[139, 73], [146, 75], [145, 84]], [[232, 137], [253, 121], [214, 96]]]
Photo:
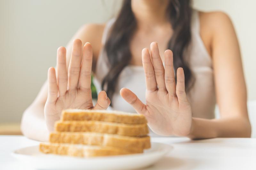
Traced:
[[251, 125], [248, 118], [227, 117], [220, 119], [192, 118], [191, 139], [214, 137], [251, 137]]

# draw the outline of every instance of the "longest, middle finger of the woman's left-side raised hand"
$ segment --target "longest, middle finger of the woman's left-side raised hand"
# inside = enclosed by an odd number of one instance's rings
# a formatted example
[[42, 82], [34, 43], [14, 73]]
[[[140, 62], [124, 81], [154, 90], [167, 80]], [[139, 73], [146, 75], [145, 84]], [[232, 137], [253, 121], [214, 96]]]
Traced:
[[73, 42], [70, 63], [68, 67], [68, 89], [77, 89], [80, 66], [82, 61], [82, 41], [76, 39]]

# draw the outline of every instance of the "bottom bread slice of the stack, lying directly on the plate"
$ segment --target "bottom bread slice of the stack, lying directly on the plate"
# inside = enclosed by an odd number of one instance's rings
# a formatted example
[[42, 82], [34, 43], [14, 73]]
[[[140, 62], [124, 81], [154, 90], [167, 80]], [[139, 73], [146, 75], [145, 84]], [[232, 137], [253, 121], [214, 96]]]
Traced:
[[97, 157], [110, 155], [125, 155], [132, 153], [143, 153], [143, 150], [129, 151], [109, 146], [88, 146], [78, 144], [52, 144], [41, 143], [39, 145], [40, 152], [53, 153], [58, 155], [68, 155], [75, 157]]

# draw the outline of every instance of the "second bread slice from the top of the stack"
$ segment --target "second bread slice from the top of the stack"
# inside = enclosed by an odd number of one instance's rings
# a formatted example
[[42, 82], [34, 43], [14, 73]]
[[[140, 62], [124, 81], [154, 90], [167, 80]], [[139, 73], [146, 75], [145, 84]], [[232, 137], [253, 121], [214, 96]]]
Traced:
[[147, 124], [123, 124], [100, 121], [64, 121], [55, 122], [58, 132], [98, 132], [123, 136], [141, 137], [148, 134]]

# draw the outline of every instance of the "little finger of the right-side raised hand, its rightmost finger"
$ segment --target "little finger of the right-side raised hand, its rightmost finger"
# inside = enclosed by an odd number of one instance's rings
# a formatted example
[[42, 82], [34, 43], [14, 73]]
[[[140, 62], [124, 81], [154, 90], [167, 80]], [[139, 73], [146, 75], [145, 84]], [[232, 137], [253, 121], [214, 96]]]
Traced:
[[185, 76], [184, 71], [180, 67], [177, 70], [177, 85], [176, 85], [176, 95], [178, 97], [179, 103], [187, 102], [187, 95], [185, 92]]

